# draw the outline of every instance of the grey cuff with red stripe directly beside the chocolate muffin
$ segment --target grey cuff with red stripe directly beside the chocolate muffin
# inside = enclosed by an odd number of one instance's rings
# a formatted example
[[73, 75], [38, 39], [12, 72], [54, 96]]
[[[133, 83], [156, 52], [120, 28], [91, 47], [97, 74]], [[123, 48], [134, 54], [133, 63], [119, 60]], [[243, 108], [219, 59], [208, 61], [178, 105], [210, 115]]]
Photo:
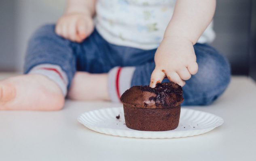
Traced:
[[108, 92], [113, 102], [120, 102], [121, 95], [131, 87], [135, 67], [114, 67], [108, 72]]

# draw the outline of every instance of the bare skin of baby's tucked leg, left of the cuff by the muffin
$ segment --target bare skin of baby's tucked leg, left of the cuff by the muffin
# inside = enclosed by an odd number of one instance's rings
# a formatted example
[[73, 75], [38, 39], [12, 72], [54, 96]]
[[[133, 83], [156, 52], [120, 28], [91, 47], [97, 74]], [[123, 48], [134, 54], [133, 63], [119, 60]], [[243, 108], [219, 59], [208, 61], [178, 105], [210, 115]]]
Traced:
[[74, 100], [110, 100], [108, 74], [76, 72], [68, 97]]

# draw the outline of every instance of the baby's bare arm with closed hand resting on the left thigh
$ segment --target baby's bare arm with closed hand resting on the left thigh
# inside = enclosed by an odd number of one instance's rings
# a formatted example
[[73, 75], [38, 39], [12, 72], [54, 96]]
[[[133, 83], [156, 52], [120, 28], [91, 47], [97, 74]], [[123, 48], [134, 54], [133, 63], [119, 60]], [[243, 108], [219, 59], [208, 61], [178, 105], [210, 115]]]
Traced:
[[81, 42], [94, 28], [96, 0], [68, 0], [65, 14], [58, 20], [55, 32], [71, 41]]

